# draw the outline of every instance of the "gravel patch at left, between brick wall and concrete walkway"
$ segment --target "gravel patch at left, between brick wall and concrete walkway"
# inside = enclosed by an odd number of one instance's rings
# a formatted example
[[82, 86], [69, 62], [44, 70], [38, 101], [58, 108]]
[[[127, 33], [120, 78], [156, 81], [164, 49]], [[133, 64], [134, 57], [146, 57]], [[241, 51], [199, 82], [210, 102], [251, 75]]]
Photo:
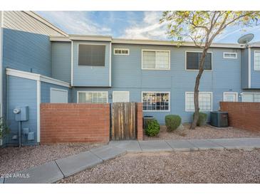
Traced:
[[51, 162], [71, 154], [78, 154], [98, 146], [100, 144], [71, 143], [0, 148], [0, 176]]

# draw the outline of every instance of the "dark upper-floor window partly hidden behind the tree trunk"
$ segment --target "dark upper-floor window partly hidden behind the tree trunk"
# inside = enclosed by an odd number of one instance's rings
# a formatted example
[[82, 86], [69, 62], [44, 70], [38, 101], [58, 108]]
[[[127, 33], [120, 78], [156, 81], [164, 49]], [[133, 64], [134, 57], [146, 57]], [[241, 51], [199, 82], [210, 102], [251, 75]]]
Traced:
[[[201, 52], [186, 52], [186, 70], [199, 70], [199, 60], [202, 57]], [[212, 70], [212, 53], [207, 53], [205, 62], [204, 62], [204, 70]]]

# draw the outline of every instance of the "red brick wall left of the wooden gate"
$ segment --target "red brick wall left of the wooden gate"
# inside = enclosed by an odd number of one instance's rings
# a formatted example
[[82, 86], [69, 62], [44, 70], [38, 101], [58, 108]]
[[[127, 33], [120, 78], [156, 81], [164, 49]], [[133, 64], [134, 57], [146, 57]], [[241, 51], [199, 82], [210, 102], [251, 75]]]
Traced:
[[108, 142], [109, 104], [41, 104], [41, 143]]

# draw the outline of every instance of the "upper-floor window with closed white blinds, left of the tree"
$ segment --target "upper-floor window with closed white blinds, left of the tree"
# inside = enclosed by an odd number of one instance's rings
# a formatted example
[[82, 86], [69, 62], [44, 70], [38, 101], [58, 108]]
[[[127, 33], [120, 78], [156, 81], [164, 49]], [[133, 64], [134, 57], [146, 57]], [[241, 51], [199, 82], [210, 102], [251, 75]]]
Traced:
[[170, 51], [142, 50], [143, 70], [170, 70]]

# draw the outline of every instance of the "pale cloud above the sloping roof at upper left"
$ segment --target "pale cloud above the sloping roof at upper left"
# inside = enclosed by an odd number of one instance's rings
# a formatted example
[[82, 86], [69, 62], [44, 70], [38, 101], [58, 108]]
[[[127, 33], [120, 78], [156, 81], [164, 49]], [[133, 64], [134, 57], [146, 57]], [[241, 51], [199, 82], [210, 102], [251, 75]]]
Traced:
[[66, 33], [74, 34], [108, 34], [111, 29], [100, 26], [90, 19], [89, 11], [38, 11]]

